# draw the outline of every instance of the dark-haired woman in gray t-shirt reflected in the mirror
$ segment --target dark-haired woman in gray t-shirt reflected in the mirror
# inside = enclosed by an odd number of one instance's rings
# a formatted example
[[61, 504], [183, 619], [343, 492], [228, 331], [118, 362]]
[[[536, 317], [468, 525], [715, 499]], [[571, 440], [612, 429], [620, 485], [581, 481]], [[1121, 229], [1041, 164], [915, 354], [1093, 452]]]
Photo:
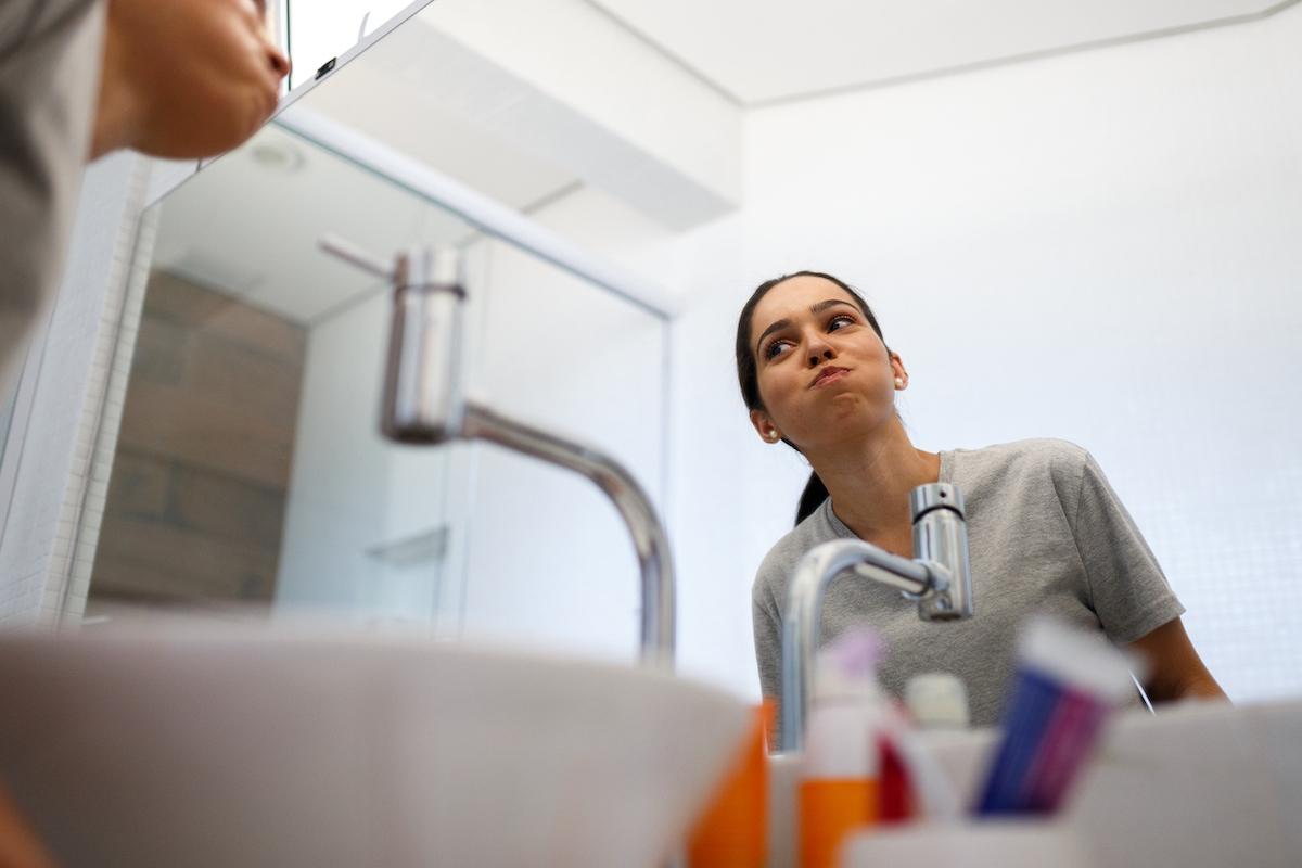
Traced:
[[947, 481], [966, 500], [975, 614], [923, 622], [898, 591], [848, 574], [828, 586], [823, 642], [871, 622], [891, 651], [880, 674], [892, 694], [915, 673], [952, 671], [967, 686], [976, 726], [999, 720], [1017, 631], [1032, 612], [1103, 630], [1141, 652], [1154, 700], [1224, 698], [1180, 622], [1184, 606], [1090, 454], [1061, 440], [915, 449], [894, 411], [909, 372], [868, 305], [840, 280], [799, 272], [762, 284], [737, 324], [737, 375], [759, 436], [786, 442], [814, 466], [796, 530], [755, 579], [766, 696], [781, 692], [783, 609], [801, 556], [859, 537], [911, 557], [909, 492]]

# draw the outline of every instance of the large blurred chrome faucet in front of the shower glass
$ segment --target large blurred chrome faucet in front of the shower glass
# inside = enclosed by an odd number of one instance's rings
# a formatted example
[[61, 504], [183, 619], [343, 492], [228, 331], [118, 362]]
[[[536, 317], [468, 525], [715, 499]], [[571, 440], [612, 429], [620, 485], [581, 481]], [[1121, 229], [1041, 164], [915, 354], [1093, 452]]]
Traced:
[[466, 298], [461, 251], [413, 247], [391, 268], [352, 243], [327, 236], [322, 250], [393, 284], [393, 324], [380, 429], [408, 444], [483, 439], [591, 479], [615, 502], [633, 535], [642, 573], [643, 664], [673, 668], [674, 576], [669, 543], [638, 481], [613, 458], [506, 419], [465, 396], [461, 319]]

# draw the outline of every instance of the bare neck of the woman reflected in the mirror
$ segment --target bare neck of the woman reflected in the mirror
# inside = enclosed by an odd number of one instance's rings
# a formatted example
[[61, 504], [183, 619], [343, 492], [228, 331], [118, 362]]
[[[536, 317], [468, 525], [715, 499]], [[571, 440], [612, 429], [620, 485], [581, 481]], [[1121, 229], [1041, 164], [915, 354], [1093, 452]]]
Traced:
[[832, 496], [836, 517], [861, 540], [910, 556], [909, 492], [939, 481], [940, 455], [915, 449], [898, 416], [884, 429], [815, 454], [806, 452]]

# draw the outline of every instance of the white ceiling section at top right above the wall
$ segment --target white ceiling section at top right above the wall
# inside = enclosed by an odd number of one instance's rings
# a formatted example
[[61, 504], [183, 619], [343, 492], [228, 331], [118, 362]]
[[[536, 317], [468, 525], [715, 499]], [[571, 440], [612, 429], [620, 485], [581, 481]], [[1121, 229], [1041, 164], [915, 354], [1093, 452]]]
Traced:
[[1234, 23], [1297, 0], [586, 0], [746, 105]]

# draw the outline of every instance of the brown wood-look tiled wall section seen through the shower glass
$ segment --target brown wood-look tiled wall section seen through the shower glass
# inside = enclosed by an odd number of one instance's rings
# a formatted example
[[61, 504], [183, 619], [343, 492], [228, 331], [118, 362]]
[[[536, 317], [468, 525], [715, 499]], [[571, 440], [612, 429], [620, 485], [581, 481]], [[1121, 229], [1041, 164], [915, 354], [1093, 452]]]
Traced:
[[305, 329], [154, 272], [90, 599], [270, 600]]

